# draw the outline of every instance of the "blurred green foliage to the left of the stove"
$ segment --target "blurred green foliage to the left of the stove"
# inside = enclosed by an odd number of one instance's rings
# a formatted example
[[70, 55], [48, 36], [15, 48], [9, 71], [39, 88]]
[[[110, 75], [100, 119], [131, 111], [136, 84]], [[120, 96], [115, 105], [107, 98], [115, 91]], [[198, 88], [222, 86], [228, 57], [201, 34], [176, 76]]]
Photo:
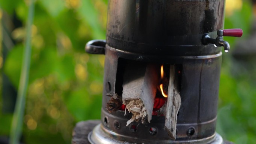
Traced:
[[[28, 4], [1, 0], [0, 6], [2, 18], [4, 11], [16, 13], [23, 25], [12, 31], [17, 43], [1, 69], [18, 88]], [[105, 39], [106, 14], [102, 0], [36, 1], [24, 143], [70, 143], [76, 122], [100, 119], [104, 56], [88, 55], [84, 46]], [[0, 135], [9, 134], [11, 119], [0, 113]]]

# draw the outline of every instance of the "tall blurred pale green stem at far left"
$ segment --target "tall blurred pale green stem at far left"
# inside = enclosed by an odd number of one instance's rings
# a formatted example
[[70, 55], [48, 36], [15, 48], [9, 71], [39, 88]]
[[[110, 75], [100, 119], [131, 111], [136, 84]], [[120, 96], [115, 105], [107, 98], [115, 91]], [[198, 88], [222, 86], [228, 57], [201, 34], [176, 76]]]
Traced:
[[27, 95], [30, 58], [31, 58], [31, 29], [34, 18], [34, 0], [30, 0], [27, 19], [27, 31], [25, 40], [25, 49], [23, 53], [23, 61], [21, 67], [21, 77], [19, 79], [18, 95], [15, 104], [15, 110], [10, 130], [10, 144], [19, 144], [22, 134], [23, 116], [25, 110], [25, 102]]

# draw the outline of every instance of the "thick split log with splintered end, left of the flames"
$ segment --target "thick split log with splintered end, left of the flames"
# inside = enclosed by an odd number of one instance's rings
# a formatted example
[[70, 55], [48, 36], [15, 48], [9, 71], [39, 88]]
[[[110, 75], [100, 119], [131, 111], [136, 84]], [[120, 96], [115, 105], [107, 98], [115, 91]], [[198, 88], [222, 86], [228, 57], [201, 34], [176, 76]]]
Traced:
[[123, 104], [132, 113], [129, 123], [150, 122], [158, 85], [159, 68], [153, 64], [127, 64], [123, 83]]

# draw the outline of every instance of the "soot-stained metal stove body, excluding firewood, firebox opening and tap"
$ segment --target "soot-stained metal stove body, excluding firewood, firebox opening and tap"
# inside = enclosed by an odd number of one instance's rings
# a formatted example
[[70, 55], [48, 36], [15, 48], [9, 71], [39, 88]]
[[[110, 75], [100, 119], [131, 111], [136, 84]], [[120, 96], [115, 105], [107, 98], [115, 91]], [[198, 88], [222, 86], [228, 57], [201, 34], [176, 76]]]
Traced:
[[[105, 54], [101, 125], [91, 143], [224, 144], [216, 134], [222, 52], [203, 45], [202, 36], [217, 37], [223, 27], [224, 0], [109, 0], [106, 46], [89, 43], [86, 51]], [[177, 137], [164, 129], [164, 116], [133, 122], [131, 114], [109, 113], [108, 93], [122, 95], [127, 61], [181, 65]], [[152, 132], [152, 128], [154, 132]], [[101, 140], [104, 138], [104, 140]], [[107, 139], [106, 139], [107, 138]]]

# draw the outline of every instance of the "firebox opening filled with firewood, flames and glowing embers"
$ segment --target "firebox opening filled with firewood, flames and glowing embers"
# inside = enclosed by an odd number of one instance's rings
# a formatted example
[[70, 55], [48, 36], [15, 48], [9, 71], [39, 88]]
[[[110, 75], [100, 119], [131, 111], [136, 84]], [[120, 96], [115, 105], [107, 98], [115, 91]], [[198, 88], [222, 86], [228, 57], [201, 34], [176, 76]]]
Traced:
[[107, 94], [109, 113], [131, 113], [132, 122], [150, 123], [152, 116], [165, 117], [165, 130], [176, 139], [180, 100], [181, 65], [153, 64], [119, 59], [115, 94]]

